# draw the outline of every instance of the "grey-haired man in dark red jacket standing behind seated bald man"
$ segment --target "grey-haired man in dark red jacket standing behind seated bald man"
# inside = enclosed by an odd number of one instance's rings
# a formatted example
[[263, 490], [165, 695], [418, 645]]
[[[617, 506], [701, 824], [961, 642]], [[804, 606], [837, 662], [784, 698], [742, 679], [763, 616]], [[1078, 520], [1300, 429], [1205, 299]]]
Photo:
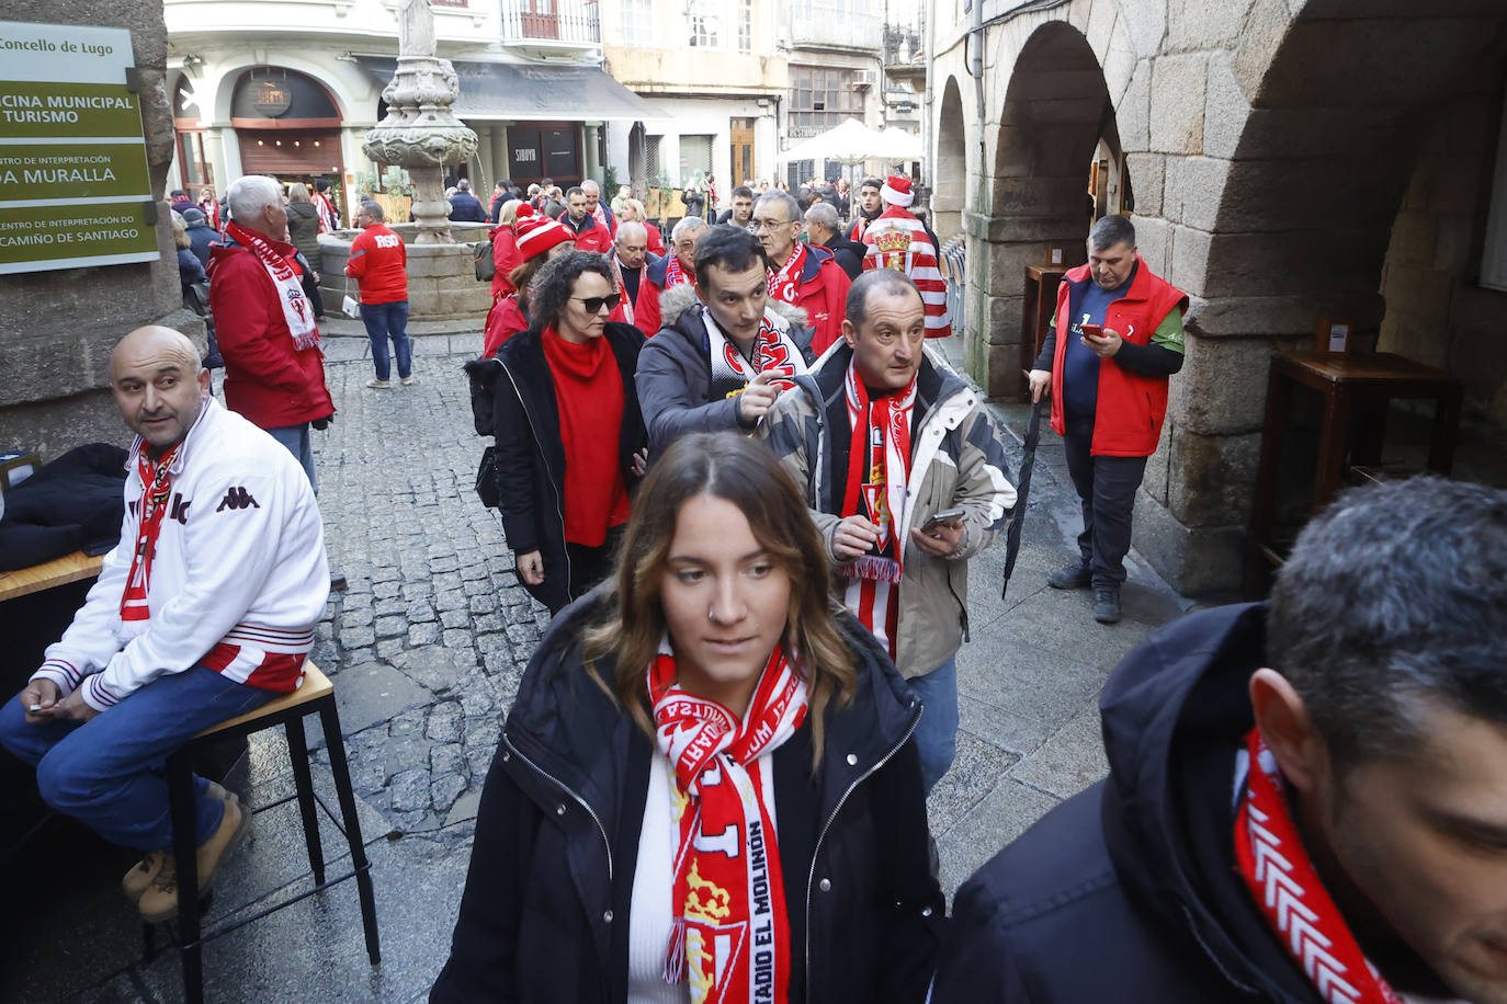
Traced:
[[335, 402], [298, 251], [288, 244], [282, 185], [247, 175], [231, 184], [226, 202], [226, 241], [209, 248], [208, 269], [225, 402], [288, 447], [318, 486], [309, 426], [329, 426]]

